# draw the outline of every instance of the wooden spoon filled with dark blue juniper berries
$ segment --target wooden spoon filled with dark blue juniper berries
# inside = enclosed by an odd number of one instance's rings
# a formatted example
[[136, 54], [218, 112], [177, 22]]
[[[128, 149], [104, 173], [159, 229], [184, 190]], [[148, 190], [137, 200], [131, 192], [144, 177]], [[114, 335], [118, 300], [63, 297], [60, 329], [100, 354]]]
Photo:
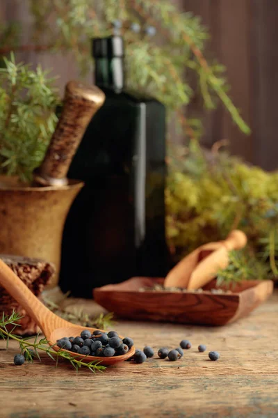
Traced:
[[[56, 346], [56, 341], [63, 336], [79, 336], [81, 331], [89, 330], [91, 333], [96, 328], [81, 327], [79, 325], [72, 324], [63, 318], [55, 315], [49, 311], [47, 307], [38, 300], [35, 295], [27, 288], [27, 286], [17, 277], [17, 275], [11, 270], [8, 265], [0, 260], [0, 284], [11, 296], [23, 307], [28, 314], [33, 318], [35, 323], [38, 324], [42, 332], [44, 333], [49, 346], [53, 346], [54, 350], [58, 351], [60, 348]], [[122, 338], [122, 336], [120, 336]], [[134, 346], [131, 347], [128, 353], [124, 355], [118, 355], [115, 357], [92, 357], [90, 355], [80, 355], [72, 353], [68, 350], [63, 350], [70, 353], [76, 359], [82, 359], [83, 362], [101, 362], [101, 365], [110, 366], [118, 362], [123, 362], [129, 357], [135, 354]]]

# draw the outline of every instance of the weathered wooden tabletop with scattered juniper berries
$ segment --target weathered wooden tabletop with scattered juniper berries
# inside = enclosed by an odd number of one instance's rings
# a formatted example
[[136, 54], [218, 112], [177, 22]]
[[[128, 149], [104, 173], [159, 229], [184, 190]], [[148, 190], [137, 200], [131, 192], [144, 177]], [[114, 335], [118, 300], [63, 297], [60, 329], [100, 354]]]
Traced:
[[[71, 300], [99, 312], [94, 302]], [[71, 309], [70, 307], [70, 309]], [[65, 363], [14, 366], [17, 344], [0, 341], [1, 418], [278, 417], [278, 291], [248, 318], [226, 327], [192, 327], [120, 320], [116, 329], [137, 348], [193, 344], [177, 362], [126, 362], [92, 374]], [[205, 343], [206, 353], [198, 353]], [[218, 362], [208, 351], [218, 350]]]

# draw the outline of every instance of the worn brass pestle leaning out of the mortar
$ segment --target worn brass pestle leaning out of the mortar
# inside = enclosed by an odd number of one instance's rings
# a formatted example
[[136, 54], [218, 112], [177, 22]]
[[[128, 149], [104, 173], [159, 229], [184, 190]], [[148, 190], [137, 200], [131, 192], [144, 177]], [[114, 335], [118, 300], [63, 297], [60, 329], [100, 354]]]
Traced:
[[92, 116], [104, 103], [97, 88], [71, 81], [65, 87], [63, 111], [42, 165], [34, 171], [34, 183], [42, 186], [67, 185], [67, 171]]

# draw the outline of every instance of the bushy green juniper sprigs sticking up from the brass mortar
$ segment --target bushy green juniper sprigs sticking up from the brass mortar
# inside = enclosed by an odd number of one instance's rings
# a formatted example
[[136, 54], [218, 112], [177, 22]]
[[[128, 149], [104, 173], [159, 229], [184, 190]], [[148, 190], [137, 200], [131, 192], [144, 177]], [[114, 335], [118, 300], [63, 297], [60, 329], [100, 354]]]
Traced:
[[58, 97], [47, 71], [4, 58], [0, 68], [0, 173], [30, 180], [56, 126]]

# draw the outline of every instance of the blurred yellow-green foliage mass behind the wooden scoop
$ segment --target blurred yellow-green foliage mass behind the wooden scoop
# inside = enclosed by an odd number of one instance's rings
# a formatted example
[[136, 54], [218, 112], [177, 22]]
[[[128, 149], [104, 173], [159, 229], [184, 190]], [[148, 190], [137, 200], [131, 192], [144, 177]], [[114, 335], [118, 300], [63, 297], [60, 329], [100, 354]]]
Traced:
[[240, 229], [249, 240], [251, 264], [243, 254], [237, 260], [232, 253], [227, 280], [231, 271], [238, 272], [235, 278], [243, 273], [237, 263], [245, 271], [242, 277], [277, 277], [278, 173], [248, 166], [227, 153], [206, 154], [196, 141], [183, 150], [170, 148], [169, 155], [166, 222], [174, 257]]

